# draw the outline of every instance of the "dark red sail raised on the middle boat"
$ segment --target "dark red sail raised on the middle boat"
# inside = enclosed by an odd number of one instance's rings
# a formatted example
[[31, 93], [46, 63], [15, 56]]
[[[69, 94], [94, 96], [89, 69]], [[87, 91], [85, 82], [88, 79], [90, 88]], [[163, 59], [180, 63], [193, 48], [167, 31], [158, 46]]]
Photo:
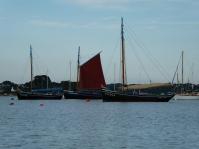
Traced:
[[79, 89], [101, 89], [105, 87], [100, 53], [80, 66]]

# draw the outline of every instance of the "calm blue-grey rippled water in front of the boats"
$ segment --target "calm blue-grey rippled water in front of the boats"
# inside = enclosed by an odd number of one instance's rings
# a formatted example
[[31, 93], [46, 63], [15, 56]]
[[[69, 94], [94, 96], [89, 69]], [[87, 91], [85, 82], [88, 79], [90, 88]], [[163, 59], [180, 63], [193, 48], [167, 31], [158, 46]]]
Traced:
[[103, 103], [10, 98], [0, 97], [1, 149], [199, 148], [199, 100]]

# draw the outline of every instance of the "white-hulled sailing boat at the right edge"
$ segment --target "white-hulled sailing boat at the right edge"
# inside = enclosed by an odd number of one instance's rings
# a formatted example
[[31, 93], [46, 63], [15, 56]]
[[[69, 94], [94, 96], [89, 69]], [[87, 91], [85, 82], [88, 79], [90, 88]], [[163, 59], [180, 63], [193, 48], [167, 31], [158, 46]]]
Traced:
[[[179, 85], [180, 86], [180, 93], [179, 94], [176, 94], [174, 99], [175, 100], [191, 100], [191, 99], [194, 99], [194, 100], [199, 100], [199, 93], [195, 93], [195, 92], [187, 92], [184, 88], [184, 51], [182, 51], [182, 54], [181, 54], [181, 60], [182, 60], [182, 72], [181, 72], [181, 79], [182, 79], [182, 84]], [[178, 67], [177, 67], [178, 68]]]

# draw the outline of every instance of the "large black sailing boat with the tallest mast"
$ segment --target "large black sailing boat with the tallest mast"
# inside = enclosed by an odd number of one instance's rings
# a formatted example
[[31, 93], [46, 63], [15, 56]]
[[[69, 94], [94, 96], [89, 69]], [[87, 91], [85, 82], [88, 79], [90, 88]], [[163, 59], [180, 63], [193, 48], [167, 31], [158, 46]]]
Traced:
[[104, 102], [168, 102], [174, 95], [140, 95], [127, 93], [124, 24], [121, 19], [121, 66], [122, 66], [122, 87], [121, 91], [110, 91], [103, 89], [102, 98]]

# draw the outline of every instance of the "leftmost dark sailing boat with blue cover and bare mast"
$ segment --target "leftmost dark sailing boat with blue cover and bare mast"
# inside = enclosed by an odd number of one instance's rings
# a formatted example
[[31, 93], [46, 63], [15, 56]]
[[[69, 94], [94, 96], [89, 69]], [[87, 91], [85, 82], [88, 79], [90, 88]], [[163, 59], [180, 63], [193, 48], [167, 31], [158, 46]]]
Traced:
[[30, 45], [30, 66], [31, 66], [31, 82], [30, 92], [17, 91], [17, 97], [19, 100], [60, 100], [63, 96], [63, 91], [60, 88], [50, 89], [37, 89], [33, 90], [33, 58], [32, 58], [32, 46]]

